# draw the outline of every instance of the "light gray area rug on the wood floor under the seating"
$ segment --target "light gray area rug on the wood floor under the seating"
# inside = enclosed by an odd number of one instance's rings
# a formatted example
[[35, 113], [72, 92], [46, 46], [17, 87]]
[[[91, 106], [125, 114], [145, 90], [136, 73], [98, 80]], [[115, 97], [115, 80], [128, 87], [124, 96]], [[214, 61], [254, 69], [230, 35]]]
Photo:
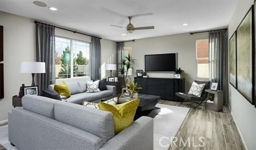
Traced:
[[[154, 150], [167, 150], [176, 136], [189, 109], [171, 105], [157, 104], [149, 116], [154, 116]], [[0, 127], [0, 144], [7, 150], [17, 150], [8, 140], [8, 125]]]

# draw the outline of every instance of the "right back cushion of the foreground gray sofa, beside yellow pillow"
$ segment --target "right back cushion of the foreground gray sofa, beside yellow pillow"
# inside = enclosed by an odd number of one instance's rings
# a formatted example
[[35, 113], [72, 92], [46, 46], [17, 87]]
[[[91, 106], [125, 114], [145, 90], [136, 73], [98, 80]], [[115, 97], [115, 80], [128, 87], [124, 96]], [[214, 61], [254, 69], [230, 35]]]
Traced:
[[94, 134], [103, 143], [114, 136], [112, 113], [67, 102], [56, 103], [54, 112], [55, 120]]

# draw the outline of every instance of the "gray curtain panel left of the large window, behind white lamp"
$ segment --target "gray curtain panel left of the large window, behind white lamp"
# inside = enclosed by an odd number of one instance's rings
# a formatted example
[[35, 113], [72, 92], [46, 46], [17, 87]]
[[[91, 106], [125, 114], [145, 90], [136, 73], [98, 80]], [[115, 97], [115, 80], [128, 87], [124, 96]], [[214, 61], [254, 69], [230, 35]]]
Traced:
[[46, 62], [46, 73], [36, 74], [41, 91], [55, 84], [55, 27], [36, 23], [36, 61]]

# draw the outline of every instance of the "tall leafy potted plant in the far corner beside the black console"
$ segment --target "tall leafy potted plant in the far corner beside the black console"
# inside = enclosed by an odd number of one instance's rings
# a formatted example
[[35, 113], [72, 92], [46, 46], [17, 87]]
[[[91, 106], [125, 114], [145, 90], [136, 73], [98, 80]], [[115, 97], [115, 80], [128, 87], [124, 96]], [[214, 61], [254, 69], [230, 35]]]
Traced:
[[121, 61], [121, 69], [119, 69], [119, 72], [121, 73], [121, 76], [124, 80], [123, 82], [124, 82], [125, 86], [126, 86], [127, 80], [128, 80], [129, 69], [132, 68], [134, 61], [135, 60], [132, 59], [130, 54], [128, 54], [128, 56], [125, 56], [125, 58], [122, 59], [122, 61]]

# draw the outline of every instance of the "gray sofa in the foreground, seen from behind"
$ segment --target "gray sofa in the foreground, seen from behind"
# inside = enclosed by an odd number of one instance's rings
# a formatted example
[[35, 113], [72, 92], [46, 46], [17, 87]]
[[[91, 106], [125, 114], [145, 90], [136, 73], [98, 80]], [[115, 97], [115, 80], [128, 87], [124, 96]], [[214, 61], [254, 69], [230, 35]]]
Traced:
[[8, 118], [9, 141], [20, 150], [153, 149], [153, 119], [147, 116], [115, 135], [107, 111], [36, 95], [24, 96], [22, 106]]

